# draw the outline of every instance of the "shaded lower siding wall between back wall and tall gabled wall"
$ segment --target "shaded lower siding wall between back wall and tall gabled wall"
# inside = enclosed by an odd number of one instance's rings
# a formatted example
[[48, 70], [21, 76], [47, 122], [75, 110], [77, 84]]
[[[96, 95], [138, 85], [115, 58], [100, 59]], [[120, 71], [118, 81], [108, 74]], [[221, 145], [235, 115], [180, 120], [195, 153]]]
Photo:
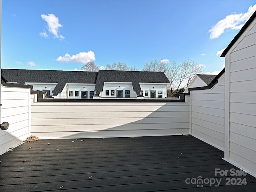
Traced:
[[191, 134], [224, 150], [225, 75], [210, 90], [190, 91]]

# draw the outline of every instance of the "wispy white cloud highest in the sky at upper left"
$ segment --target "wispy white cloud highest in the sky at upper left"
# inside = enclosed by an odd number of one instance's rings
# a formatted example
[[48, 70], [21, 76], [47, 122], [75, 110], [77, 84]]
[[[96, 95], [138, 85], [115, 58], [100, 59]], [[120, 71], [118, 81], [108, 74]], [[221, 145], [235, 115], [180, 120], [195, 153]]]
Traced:
[[[62, 24], [59, 23], [58, 17], [56, 17], [52, 13], [48, 15], [42, 14], [41, 17], [47, 22], [46, 29], [50, 34], [53, 34], [55, 38], [59, 38], [60, 40], [63, 40], [65, 38], [64, 36], [59, 34], [59, 29], [62, 27]], [[40, 36], [43, 36], [44, 38], [48, 37], [45, 29], [44, 32], [40, 32]]]

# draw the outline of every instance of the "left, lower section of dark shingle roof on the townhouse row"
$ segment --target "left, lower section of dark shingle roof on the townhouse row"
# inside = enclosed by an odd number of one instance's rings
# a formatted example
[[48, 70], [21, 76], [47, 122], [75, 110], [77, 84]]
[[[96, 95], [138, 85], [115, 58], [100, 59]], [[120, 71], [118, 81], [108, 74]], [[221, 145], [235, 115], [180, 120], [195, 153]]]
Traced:
[[61, 93], [66, 83], [95, 84], [98, 72], [2, 69], [2, 76], [9, 82], [58, 83], [52, 91], [54, 96]]

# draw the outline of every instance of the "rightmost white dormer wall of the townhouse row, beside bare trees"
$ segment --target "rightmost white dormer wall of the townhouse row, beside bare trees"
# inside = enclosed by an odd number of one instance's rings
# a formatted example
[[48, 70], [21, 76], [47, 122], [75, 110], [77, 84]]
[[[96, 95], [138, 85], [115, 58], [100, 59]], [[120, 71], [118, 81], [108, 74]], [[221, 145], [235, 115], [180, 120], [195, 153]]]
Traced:
[[[156, 91], [156, 98], [157, 98], [158, 91], [163, 92], [163, 97], [162, 98], [167, 97], [167, 84], [140, 83], [140, 88], [143, 91], [144, 98], [150, 98], [150, 91]], [[148, 91], [148, 95], [145, 95], [146, 91]]]

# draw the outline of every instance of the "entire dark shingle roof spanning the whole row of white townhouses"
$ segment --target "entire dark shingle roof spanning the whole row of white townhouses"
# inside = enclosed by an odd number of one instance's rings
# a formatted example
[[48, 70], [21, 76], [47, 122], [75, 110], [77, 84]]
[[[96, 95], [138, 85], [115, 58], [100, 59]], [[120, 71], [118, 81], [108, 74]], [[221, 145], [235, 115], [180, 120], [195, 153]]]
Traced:
[[61, 93], [66, 83], [96, 84], [96, 94], [103, 90], [104, 82], [132, 82], [137, 94], [141, 91], [139, 83], [170, 83], [164, 72], [142, 71], [55, 71], [2, 69], [2, 76], [9, 82], [24, 84], [25, 82], [58, 83], [52, 91], [54, 96]]

